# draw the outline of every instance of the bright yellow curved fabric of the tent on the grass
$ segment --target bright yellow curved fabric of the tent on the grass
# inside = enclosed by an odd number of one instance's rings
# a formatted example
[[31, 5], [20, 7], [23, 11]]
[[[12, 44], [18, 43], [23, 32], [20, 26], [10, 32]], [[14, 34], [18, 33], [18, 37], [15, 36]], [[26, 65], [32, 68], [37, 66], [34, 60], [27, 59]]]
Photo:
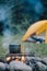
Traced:
[[39, 35], [43, 32], [46, 32], [45, 43], [47, 44], [47, 20], [38, 21], [28, 27], [27, 32], [23, 36], [22, 40], [25, 42], [30, 36]]

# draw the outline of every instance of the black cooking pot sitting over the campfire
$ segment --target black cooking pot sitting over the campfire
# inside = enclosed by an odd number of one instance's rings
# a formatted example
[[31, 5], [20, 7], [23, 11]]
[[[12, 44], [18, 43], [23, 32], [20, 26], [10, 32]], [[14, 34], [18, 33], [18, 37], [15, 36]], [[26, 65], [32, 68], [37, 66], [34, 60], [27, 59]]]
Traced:
[[9, 51], [10, 54], [21, 54], [21, 45], [20, 44], [10, 45]]

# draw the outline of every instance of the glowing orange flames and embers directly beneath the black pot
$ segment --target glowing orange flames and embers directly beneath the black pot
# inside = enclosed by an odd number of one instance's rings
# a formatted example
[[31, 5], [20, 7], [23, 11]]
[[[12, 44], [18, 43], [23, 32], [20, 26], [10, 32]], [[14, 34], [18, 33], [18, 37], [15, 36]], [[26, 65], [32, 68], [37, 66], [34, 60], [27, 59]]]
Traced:
[[11, 57], [10, 55], [7, 56], [5, 58], [7, 62], [10, 62], [12, 60], [15, 60], [15, 61], [22, 61], [22, 62], [25, 62], [26, 61], [26, 57], [25, 57], [25, 54], [11, 54]]

